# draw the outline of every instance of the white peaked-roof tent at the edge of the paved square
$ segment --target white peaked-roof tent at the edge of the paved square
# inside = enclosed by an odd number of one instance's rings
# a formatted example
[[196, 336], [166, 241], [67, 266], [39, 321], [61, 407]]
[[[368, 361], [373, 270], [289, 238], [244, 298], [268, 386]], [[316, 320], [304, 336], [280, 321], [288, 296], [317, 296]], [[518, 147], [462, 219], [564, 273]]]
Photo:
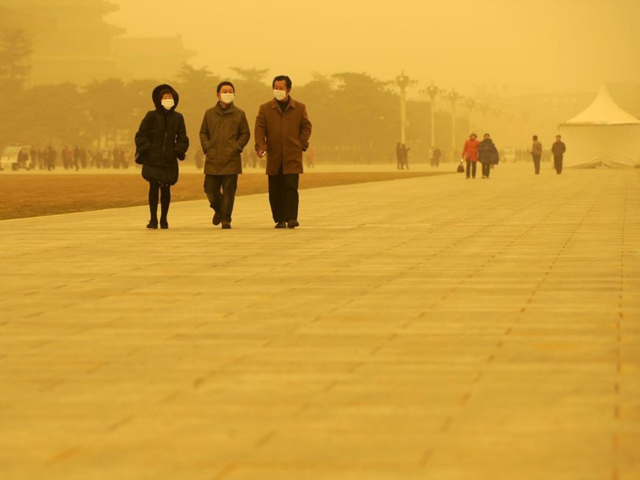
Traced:
[[611, 99], [602, 85], [580, 115], [560, 125], [565, 166], [640, 167], [640, 120]]

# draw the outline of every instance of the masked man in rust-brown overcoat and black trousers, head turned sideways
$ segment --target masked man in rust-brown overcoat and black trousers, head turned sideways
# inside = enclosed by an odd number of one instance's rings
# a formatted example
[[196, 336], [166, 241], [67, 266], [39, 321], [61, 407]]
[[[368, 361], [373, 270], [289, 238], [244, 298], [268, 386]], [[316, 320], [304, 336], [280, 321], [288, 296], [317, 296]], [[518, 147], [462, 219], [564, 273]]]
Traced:
[[273, 79], [274, 99], [260, 105], [255, 119], [255, 151], [267, 156], [269, 204], [276, 228], [298, 225], [298, 182], [302, 152], [309, 146], [311, 122], [304, 104], [291, 98], [291, 79]]

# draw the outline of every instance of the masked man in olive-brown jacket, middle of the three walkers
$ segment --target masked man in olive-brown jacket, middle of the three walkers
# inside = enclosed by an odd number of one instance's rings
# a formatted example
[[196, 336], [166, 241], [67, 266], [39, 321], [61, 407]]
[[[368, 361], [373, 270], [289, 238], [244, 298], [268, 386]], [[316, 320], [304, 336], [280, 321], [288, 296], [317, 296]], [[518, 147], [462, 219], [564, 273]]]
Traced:
[[204, 191], [215, 212], [213, 224], [231, 228], [238, 175], [242, 173], [241, 154], [251, 132], [244, 111], [234, 105], [234, 85], [220, 83], [217, 95], [218, 103], [205, 112], [200, 128], [200, 143], [206, 155]]

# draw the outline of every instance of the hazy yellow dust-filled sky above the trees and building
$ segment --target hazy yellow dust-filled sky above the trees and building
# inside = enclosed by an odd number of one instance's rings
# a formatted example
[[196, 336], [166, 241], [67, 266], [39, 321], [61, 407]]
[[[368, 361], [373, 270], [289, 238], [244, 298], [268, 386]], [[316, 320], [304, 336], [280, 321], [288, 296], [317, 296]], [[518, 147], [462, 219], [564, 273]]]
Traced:
[[295, 81], [314, 71], [401, 69], [472, 92], [596, 90], [640, 82], [638, 0], [202, 1], [111, 0], [130, 36], [180, 33], [193, 63], [269, 68]]

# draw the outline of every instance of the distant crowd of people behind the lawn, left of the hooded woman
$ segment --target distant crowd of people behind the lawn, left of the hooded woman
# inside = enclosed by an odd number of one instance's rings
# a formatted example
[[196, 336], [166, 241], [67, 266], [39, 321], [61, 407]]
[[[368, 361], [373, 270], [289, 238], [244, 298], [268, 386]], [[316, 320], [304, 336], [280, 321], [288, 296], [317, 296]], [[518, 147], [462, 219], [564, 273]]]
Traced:
[[87, 168], [129, 168], [131, 151], [127, 148], [70, 148], [65, 146], [58, 152], [55, 148], [32, 147], [31, 168], [37, 170], [85, 170]]

